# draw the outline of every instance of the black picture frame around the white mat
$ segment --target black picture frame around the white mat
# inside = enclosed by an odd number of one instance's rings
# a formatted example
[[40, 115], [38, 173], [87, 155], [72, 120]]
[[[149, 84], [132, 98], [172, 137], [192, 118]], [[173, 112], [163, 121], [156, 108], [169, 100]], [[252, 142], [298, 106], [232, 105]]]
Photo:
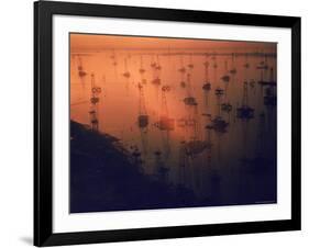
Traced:
[[[53, 233], [53, 15], [106, 16], [291, 30], [291, 218], [121, 230]], [[300, 204], [300, 18], [104, 5], [88, 3], [34, 3], [34, 245], [57, 246], [299, 230]]]

